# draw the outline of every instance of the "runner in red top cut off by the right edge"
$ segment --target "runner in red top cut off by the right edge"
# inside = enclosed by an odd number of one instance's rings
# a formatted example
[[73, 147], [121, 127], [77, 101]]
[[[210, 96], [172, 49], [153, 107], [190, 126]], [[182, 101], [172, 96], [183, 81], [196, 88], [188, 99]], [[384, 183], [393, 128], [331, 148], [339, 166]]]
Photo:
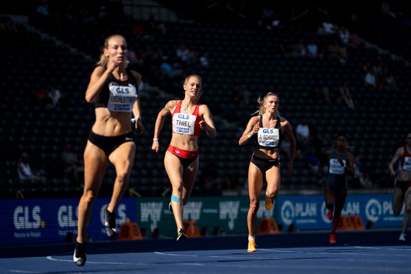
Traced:
[[[394, 166], [397, 165], [397, 166]], [[390, 174], [395, 177], [395, 188], [393, 195], [394, 216], [401, 213], [403, 205], [406, 212], [403, 216], [400, 241], [406, 240], [406, 231], [411, 219], [411, 132], [405, 134], [399, 142], [399, 148], [395, 151], [393, 159], [388, 164]]]

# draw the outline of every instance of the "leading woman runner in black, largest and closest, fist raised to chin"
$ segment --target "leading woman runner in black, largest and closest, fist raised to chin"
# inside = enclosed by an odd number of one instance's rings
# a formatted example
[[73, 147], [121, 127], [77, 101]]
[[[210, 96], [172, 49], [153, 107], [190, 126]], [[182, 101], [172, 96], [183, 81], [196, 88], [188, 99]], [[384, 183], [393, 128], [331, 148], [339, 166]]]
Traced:
[[112, 199], [104, 210], [105, 232], [110, 237], [116, 234], [115, 210], [127, 189], [136, 153], [130, 122], [133, 115], [136, 131], [145, 130], [138, 97], [141, 75], [127, 69], [127, 64], [125, 38], [109, 36], [104, 41], [100, 61], [86, 90], [86, 101], [95, 105], [96, 119], [84, 151], [84, 192], [79, 201], [78, 235], [73, 256], [78, 266], [86, 263], [86, 227], [109, 161], [116, 169], [116, 179]]

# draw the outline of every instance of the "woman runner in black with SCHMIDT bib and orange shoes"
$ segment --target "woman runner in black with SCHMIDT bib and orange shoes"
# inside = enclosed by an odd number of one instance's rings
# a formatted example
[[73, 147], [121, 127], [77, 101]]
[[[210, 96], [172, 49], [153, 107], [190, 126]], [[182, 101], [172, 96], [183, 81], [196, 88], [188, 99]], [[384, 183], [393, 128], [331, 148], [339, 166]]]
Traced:
[[266, 176], [266, 210], [273, 208], [274, 198], [279, 190], [279, 144], [282, 136], [290, 141], [290, 161], [288, 164], [288, 175], [292, 175], [292, 163], [295, 153], [295, 137], [292, 133], [290, 123], [278, 115], [278, 95], [269, 92], [264, 99], [258, 99], [260, 110], [258, 116], [249, 120], [242, 134], [239, 145], [256, 138], [257, 148], [251, 156], [249, 165], [248, 184], [250, 208], [247, 214], [247, 227], [249, 230], [248, 252], [256, 251], [256, 220], [260, 206], [260, 195], [263, 184], [263, 176]]

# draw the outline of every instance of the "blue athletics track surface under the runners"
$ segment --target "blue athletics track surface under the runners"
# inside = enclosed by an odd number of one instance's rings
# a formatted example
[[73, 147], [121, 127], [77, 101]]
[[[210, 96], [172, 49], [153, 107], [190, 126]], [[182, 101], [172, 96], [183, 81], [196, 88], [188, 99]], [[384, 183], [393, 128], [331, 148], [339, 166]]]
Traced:
[[100, 241], [88, 244], [87, 263], [76, 266], [71, 243], [0, 247], [0, 273], [411, 273], [411, 235], [366, 230]]

